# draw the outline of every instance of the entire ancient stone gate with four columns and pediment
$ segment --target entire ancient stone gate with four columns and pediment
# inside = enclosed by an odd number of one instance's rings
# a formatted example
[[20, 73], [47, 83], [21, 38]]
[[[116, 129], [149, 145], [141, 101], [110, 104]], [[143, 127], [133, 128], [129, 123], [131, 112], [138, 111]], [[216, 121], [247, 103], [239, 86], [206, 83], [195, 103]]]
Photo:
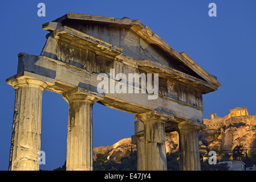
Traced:
[[[42, 93], [69, 104], [67, 170], [92, 170], [92, 106], [136, 114], [139, 170], [166, 170], [164, 133], [178, 131], [181, 170], [200, 170], [202, 94], [220, 83], [140, 20], [68, 13], [43, 24], [39, 56], [19, 53], [9, 170], [39, 170]], [[129, 75], [130, 74], [130, 75]]]

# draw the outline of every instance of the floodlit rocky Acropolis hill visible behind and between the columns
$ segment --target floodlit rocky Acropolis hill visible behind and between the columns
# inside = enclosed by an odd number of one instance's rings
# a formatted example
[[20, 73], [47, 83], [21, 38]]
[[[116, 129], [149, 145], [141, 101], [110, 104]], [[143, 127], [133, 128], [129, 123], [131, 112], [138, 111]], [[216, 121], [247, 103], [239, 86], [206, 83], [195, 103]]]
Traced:
[[[245, 107], [231, 109], [225, 117], [218, 117], [210, 113], [211, 119], [204, 119], [206, 128], [199, 133], [199, 146], [202, 155], [208, 155], [211, 150], [221, 149], [231, 154], [234, 147], [242, 146], [242, 150], [256, 152], [256, 115], [249, 115]], [[131, 143], [131, 138], [119, 140], [112, 146], [94, 148], [96, 154], [105, 154], [108, 159], [115, 160], [125, 155], [127, 150], [136, 150], [136, 145]], [[166, 152], [178, 152], [178, 133], [176, 131], [165, 134]], [[221, 156], [219, 156], [221, 157]]]

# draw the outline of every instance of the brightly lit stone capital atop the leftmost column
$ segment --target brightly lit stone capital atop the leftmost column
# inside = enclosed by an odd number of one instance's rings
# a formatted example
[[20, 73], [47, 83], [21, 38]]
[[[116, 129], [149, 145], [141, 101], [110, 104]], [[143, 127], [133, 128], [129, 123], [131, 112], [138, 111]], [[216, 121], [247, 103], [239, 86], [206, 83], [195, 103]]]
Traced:
[[44, 89], [46, 89], [47, 87], [47, 84], [44, 81], [36, 80], [34, 78], [27, 78], [23, 76], [14, 78], [13, 80], [9, 80], [7, 84], [13, 86], [15, 90], [23, 86], [27, 86], [32, 88], [39, 88], [42, 91], [44, 91]]

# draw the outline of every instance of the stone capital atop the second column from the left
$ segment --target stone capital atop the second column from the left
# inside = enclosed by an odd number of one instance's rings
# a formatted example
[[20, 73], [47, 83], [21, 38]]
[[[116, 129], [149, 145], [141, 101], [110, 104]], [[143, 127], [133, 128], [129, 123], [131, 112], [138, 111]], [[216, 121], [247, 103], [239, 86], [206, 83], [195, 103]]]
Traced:
[[95, 104], [95, 102], [103, 99], [103, 96], [100, 94], [90, 93], [87, 92], [87, 90], [80, 88], [75, 88], [69, 90], [68, 92], [64, 92], [62, 97], [68, 102], [68, 104], [70, 104], [72, 101], [83, 101]]

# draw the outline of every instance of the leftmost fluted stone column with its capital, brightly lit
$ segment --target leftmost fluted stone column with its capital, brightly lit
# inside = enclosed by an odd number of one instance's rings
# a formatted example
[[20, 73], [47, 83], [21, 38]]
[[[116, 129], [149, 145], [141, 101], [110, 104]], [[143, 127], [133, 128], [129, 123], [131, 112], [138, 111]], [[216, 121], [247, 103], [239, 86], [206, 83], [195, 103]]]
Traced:
[[18, 77], [9, 83], [15, 89], [13, 133], [9, 170], [39, 170], [43, 81]]

